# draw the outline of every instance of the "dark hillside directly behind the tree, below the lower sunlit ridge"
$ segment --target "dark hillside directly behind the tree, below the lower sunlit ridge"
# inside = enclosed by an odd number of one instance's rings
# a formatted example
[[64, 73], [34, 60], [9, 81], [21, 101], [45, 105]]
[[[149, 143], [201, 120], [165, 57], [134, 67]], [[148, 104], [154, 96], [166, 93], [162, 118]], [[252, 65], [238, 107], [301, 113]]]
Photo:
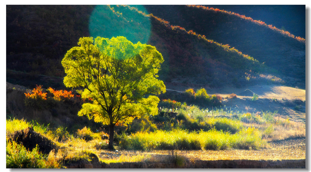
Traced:
[[[202, 13], [202, 10], [195, 11]], [[197, 21], [201, 19], [198, 17]], [[185, 20], [190, 19], [185, 17]], [[240, 24], [238, 20], [236, 22], [232, 25]], [[67, 50], [77, 45], [80, 37], [119, 35], [134, 43], [147, 41], [156, 46], [165, 59], [160, 79], [167, 82], [175, 77], [190, 77], [200, 84], [222, 87], [276, 81], [267, 77], [275, 74], [274, 70], [261, 64], [263, 61], [192, 30], [171, 26], [165, 20], [129, 6], [8, 5], [7, 81], [32, 88], [35, 83], [63, 88], [62, 82], [55, 83], [64, 76], [60, 61]], [[21, 82], [25, 76], [29, 78], [28, 83], [27, 80]]]

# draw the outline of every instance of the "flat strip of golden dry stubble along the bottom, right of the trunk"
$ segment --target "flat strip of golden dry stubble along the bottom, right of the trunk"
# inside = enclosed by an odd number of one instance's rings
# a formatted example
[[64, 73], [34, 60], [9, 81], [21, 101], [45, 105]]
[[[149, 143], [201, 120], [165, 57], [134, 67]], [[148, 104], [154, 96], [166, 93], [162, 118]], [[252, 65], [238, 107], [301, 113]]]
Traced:
[[[172, 155], [172, 152], [174, 154]], [[274, 147], [262, 150], [153, 150], [153, 151], [103, 151], [98, 155], [102, 162], [171, 162], [174, 155], [195, 160], [298, 160], [305, 159], [305, 145], [293, 147]], [[133, 157], [131, 159], [131, 157]], [[141, 161], [139, 161], [141, 158]]]

